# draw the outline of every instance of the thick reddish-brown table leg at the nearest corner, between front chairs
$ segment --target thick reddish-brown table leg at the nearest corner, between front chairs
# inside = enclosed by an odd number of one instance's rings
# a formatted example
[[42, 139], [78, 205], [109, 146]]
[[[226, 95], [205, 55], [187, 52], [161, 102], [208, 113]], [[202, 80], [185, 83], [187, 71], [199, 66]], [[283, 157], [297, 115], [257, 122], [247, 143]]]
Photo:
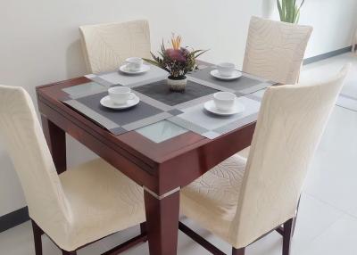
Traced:
[[179, 234], [179, 189], [158, 197], [145, 190], [150, 255], [176, 255]]

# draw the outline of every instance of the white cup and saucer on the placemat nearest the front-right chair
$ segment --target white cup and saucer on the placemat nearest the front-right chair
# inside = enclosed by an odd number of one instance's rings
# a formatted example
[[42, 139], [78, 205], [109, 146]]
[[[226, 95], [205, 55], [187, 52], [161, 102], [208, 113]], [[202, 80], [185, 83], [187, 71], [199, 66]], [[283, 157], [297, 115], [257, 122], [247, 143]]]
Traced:
[[237, 101], [237, 96], [230, 92], [217, 92], [213, 100], [204, 103], [204, 109], [214, 114], [228, 116], [245, 111], [245, 106]]

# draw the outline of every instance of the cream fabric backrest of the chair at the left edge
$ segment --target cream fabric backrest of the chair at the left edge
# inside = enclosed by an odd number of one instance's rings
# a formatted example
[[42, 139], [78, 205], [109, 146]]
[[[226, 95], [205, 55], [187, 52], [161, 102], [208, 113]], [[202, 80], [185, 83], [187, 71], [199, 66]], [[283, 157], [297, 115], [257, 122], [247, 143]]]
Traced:
[[16, 86], [0, 86], [0, 136], [12, 158], [29, 207], [40, 226], [62, 224], [69, 213], [62, 185], [29, 94]]

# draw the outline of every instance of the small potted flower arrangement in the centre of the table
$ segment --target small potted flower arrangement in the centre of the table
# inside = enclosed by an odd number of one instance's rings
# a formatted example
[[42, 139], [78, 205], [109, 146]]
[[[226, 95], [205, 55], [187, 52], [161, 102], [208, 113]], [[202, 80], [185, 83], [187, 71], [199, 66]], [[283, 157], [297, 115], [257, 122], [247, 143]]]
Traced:
[[145, 59], [145, 61], [169, 72], [167, 84], [171, 90], [184, 91], [187, 85], [187, 73], [197, 69], [195, 60], [205, 52], [203, 50], [189, 50], [187, 47], [181, 47], [181, 37], [172, 35], [170, 48], [165, 48], [162, 41], [159, 56], [151, 53], [154, 60]]

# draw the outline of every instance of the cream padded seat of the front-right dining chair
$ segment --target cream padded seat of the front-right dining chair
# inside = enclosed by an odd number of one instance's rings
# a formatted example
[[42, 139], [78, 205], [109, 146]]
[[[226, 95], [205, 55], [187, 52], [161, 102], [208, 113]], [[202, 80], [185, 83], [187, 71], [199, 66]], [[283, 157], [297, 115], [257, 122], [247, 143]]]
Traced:
[[236, 154], [181, 191], [181, 212], [228, 241], [236, 215], [246, 159]]

